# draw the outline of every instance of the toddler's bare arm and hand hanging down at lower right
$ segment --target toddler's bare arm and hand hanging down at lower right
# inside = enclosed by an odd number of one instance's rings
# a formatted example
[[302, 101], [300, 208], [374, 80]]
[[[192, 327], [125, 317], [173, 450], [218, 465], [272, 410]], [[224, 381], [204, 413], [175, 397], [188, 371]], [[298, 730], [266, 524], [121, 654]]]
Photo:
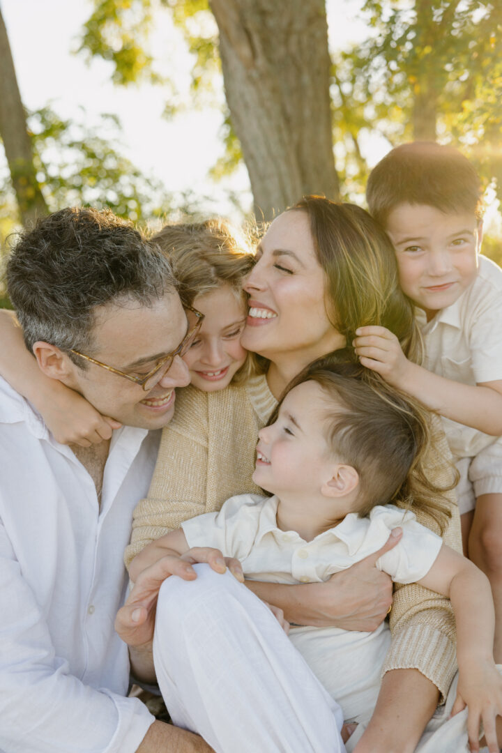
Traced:
[[418, 581], [449, 596], [457, 623], [458, 690], [452, 714], [468, 707], [471, 751], [479, 750], [479, 724], [490, 753], [498, 753], [495, 719], [502, 715], [502, 677], [494, 664], [494, 607], [488, 578], [443, 544], [434, 565]]

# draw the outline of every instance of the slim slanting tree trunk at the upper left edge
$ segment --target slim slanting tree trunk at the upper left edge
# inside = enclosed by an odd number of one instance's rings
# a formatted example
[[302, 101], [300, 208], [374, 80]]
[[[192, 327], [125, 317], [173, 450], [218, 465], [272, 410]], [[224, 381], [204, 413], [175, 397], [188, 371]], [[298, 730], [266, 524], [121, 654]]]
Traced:
[[32, 142], [26, 128], [26, 114], [17, 86], [7, 29], [0, 11], [0, 136], [23, 225], [47, 214], [33, 164]]

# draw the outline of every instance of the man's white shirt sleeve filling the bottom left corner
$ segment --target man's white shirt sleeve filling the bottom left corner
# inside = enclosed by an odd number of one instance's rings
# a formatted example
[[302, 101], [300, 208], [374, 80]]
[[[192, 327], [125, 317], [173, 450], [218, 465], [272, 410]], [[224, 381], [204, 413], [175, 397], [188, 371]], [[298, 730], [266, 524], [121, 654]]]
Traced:
[[134, 753], [154, 717], [138, 699], [71, 674], [1, 521], [0, 572], [0, 750]]

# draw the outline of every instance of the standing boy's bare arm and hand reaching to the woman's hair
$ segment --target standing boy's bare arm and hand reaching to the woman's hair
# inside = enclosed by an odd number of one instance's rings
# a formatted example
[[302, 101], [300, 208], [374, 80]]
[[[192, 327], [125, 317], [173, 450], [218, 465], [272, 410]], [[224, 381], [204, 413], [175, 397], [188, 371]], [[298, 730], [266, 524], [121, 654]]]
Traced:
[[360, 327], [352, 343], [361, 364], [441, 416], [494, 437], [502, 435], [502, 380], [476, 386], [440, 377], [406, 358], [385, 327]]

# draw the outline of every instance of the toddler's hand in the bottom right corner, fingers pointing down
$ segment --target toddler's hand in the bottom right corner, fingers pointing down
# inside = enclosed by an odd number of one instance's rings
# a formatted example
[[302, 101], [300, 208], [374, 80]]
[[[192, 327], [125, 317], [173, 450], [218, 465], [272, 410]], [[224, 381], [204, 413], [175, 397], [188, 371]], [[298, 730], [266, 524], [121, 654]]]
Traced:
[[493, 660], [462, 662], [452, 716], [467, 706], [470, 751], [479, 751], [479, 727], [485, 730], [489, 753], [499, 753], [495, 721], [502, 716], [502, 676]]

